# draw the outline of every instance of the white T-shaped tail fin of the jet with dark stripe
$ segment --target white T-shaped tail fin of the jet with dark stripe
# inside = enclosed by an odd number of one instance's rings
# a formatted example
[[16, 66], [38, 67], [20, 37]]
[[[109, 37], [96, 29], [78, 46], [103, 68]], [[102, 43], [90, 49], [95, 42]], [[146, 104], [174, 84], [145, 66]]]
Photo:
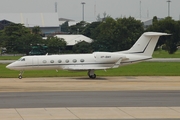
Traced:
[[160, 33], [160, 32], [145, 32], [136, 41], [136, 43], [129, 50], [125, 52], [152, 56], [152, 53], [155, 49], [159, 37], [163, 35], [170, 35], [170, 34]]

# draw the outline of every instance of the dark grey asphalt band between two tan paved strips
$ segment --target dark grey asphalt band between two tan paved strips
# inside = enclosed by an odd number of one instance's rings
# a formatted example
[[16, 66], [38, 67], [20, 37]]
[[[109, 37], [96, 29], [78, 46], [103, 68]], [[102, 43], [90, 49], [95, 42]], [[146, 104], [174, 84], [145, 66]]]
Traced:
[[172, 107], [180, 91], [17, 92], [0, 93], [0, 108]]

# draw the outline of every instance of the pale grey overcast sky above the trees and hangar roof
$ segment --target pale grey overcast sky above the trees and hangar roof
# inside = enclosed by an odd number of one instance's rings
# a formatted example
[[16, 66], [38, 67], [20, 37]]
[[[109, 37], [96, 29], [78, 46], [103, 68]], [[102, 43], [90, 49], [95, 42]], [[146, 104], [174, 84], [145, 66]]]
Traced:
[[[103, 13], [113, 17], [135, 17], [151, 19], [153, 16], [164, 18], [168, 16], [168, 0], [0, 0], [0, 13], [53, 13], [55, 2], [59, 18], [75, 21], [82, 20], [82, 2], [84, 5], [84, 20], [95, 21], [98, 14]], [[140, 17], [141, 16], [141, 17]], [[170, 16], [180, 19], [180, 0], [171, 0]]]

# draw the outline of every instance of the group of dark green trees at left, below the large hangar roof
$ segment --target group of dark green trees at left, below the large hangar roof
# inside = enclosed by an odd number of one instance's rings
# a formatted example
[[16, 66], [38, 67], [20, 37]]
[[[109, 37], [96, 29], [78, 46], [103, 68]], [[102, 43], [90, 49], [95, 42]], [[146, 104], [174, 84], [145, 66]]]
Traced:
[[66, 42], [53, 36], [49, 36], [44, 40], [39, 26], [29, 29], [23, 24], [12, 23], [0, 31], [0, 48], [6, 48], [7, 53], [28, 55], [33, 46], [39, 48], [48, 46], [46, 52], [58, 53], [59, 50], [65, 49]]

